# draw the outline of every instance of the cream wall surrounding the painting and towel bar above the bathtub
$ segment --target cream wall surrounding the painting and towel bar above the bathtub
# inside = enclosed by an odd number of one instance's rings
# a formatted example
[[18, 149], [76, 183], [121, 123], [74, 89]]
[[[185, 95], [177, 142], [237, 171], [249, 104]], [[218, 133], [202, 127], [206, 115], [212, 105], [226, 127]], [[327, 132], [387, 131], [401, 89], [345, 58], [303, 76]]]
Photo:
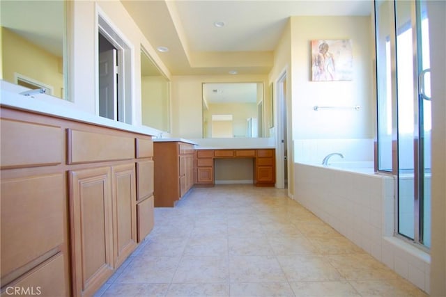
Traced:
[[[373, 138], [370, 17], [292, 17], [293, 139]], [[311, 81], [311, 40], [351, 39], [352, 81]], [[314, 106], [360, 106], [314, 111]]]

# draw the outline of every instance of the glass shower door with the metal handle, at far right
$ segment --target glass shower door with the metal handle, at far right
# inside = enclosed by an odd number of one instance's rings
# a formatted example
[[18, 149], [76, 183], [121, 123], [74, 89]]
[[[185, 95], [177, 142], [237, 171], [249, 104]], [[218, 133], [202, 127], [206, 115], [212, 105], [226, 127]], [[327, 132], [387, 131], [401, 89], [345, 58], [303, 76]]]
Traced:
[[395, 1], [398, 233], [430, 245], [429, 20], [424, 1]]

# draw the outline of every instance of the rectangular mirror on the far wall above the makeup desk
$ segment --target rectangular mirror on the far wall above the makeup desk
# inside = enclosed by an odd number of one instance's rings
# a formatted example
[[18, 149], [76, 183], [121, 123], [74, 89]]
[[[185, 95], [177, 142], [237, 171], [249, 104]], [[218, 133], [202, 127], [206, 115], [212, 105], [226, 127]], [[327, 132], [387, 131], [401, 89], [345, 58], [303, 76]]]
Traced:
[[203, 83], [203, 138], [263, 137], [263, 83]]

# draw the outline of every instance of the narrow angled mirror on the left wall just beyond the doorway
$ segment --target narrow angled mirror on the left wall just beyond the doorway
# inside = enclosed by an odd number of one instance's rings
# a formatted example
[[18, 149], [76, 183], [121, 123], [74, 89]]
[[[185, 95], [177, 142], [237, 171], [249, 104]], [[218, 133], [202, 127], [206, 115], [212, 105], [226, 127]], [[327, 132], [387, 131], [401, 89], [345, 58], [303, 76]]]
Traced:
[[170, 131], [170, 82], [141, 50], [142, 125]]

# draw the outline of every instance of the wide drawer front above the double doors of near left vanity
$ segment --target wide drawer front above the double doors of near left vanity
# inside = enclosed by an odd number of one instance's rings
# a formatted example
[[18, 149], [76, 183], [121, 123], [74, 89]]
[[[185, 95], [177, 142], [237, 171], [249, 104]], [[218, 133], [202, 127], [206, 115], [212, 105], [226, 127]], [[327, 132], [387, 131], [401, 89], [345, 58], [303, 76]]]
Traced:
[[68, 129], [68, 163], [134, 158], [134, 138]]

